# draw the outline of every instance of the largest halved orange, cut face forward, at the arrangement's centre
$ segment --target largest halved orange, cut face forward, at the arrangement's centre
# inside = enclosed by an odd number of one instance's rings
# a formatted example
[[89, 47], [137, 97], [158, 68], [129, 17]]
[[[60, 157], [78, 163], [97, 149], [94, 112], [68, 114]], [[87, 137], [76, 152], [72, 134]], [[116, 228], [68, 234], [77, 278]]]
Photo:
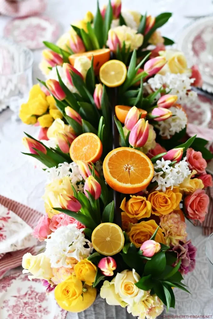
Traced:
[[105, 157], [103, 174], [112, 189], [124, 194], [134, 194], [149, 185], [154, 167], [151, 160], [141, 151], [119, 147]]

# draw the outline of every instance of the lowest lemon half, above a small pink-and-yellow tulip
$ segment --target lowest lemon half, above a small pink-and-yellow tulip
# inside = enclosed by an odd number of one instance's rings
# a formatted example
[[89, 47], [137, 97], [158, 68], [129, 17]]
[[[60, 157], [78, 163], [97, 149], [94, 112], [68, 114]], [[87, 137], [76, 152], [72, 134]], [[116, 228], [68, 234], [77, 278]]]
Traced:
[[124, 234], [122, 229], [113, 223], [102, 223], [92, 233], [94, 249], [105, 256], [112, 256], [124, 247]]

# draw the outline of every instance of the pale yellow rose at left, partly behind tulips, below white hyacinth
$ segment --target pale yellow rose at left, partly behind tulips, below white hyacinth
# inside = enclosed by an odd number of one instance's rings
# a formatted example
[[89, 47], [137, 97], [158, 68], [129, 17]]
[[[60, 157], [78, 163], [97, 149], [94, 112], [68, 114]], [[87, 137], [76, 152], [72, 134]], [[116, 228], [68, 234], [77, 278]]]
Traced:
[[52, 218], [54, 215], [59, 214], [59, 211], [53, 209], [53, 207], [61, 207], [58, 202], [59, 194], [73, 195], [71, 182], [68, 176], [60, 179], [55, 179], [45, 188], [45, 193], [42, 198], [44, 200], [44, 207], [49, 218]]

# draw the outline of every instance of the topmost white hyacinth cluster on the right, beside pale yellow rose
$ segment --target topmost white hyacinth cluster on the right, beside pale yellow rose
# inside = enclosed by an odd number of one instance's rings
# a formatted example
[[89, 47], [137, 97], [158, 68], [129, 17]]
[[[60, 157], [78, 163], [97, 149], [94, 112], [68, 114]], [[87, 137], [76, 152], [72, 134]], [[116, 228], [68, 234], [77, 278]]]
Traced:
[[[148, 84], [151, 86], [153, 91], [157, 91], [163, 86], [167, 93], [169, 92], [169, 94], [178, 96], [177, 103], [180, 104], [191, 103], [197, 98], [197, 93], [191, 91], [191, 83], [193, 82], [194, 79], [190, 79], [185, 73], [166, 73], [165, 75], [156, 74], [153, 78], [148, 79]], [[147, 83], [144, 85], [148, 90]]]

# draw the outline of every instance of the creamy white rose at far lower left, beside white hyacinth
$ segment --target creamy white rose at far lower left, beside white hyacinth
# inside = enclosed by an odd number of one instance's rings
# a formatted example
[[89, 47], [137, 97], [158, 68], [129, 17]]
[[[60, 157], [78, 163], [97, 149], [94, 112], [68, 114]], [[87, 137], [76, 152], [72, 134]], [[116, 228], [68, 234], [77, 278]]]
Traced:
[[30, 253], [22, 257], [23, 274], [31, 272], [33, 276], [28, 276], [31, 279], [50, 279], [53, 276], [50, 260], [44, 253], [32, 256]]

